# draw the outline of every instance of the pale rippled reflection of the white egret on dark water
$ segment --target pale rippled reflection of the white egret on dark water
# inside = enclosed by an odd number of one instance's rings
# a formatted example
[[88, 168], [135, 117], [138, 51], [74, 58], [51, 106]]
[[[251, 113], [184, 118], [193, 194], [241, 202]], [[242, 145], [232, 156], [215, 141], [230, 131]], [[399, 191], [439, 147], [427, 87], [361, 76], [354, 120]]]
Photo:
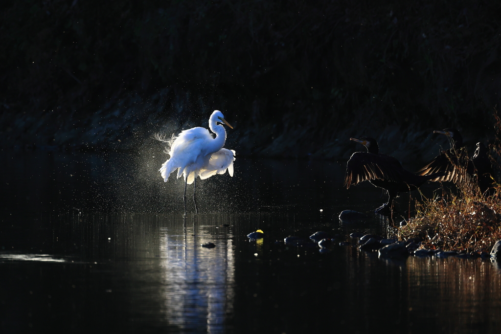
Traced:
[[[192, 224], [192, 226], [188, 226]], [[182, 231], [160, 229], [160, 267], [165, 315], [169, 324], [188, 332], [225, 332], [225, 315], [232, 307], [234, 255], [228, 236], [216, 247], [200, 247], [210, 235], [199, 234], [198, 217]]]

